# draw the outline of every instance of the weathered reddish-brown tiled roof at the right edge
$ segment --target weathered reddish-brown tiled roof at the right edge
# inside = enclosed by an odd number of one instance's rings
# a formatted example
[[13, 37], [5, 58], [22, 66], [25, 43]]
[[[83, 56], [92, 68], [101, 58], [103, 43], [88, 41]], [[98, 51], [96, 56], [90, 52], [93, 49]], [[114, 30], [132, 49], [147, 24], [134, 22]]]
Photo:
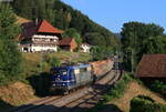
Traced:
[[136, 75], [138, 78], [166, 78], [166, 54], [143, 55]]

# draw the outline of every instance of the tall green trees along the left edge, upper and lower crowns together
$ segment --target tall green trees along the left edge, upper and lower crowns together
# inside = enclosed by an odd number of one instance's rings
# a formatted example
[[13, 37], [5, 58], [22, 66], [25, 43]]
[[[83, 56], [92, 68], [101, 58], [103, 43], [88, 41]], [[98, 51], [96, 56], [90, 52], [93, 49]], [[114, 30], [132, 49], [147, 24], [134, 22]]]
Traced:
[[0, 4], [0, 84], [21, 77], [21, 54], [17, 43], [19, 27], [9, 4]]

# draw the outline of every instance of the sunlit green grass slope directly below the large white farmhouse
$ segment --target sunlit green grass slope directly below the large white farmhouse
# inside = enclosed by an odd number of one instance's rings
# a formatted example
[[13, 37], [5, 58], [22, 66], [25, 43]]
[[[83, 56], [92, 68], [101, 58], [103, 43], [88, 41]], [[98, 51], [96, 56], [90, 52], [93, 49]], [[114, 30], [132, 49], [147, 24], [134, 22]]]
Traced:
[[24, 78], [38, 74], [40, 72], [49, 72], [51, 65], [45, 60], [56, 57], [61, 63], [63, 62], [89, 62], [90, 53], [60, 51], [55, 53], [22, 53]]

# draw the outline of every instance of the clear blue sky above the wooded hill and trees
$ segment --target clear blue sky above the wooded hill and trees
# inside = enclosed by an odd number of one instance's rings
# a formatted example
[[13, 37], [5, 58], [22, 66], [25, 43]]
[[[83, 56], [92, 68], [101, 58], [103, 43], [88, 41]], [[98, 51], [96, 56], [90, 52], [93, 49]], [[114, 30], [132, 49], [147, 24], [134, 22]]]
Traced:
[[62, 0], [113, 32], [123, 23], [139, 21], [166, 29], [166, 0]]

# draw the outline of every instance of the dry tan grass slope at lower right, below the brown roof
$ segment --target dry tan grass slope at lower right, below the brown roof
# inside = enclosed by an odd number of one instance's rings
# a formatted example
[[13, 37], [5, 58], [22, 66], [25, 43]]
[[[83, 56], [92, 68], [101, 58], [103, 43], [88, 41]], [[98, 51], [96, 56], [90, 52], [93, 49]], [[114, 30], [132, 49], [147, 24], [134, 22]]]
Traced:
[[166, 101], [164, 99], [159, 98], [157, 94], [149, 91], [147, 88], [138, 84], [136, 81], [131, 82], [127, 86], [128, 86], [127, 90], [125, 91], [124, 95], [121, 99], [115, 99], [108, 102], [108, 104], [115, 104], [123, 112], [128, 112], [131, 100], [139, 94], [151, 96], [157, 103], [166, 104]]

